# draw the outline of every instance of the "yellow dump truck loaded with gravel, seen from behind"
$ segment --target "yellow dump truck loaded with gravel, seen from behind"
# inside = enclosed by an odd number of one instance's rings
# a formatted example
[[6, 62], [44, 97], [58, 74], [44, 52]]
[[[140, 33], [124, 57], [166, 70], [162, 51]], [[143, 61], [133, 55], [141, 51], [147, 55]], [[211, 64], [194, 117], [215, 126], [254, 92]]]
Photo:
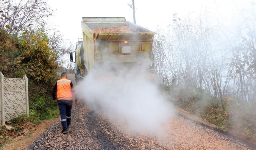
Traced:
[[[145, 76], [154, 78], [155, 57], [152, 44], [155, 32], [127, 21], [124, 17], [83, 17], [82, 37], [70, 61], [76, 63], [76, 81], [87, 74], [113, 75], [111, 69], [141, 65]], [[142, 65], [145, 64], [145, 65]]]

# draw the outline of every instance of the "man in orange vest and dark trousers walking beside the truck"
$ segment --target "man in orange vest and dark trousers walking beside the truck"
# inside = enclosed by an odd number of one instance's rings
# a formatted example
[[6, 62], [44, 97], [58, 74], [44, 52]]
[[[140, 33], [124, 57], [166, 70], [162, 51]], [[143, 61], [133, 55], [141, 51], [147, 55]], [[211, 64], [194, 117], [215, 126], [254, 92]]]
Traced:
[[[56, 101], [56, 93], [58, 98], [58, 105], [60, 110], [60, 119], [62, 124], [62, 133], [67, 134], [67, 129], [71, 124], [71, 108], [73, 104], [72, 90], [74, 86], [70, 80], [68, 80], [68, 74], [63, 72], [61, 79], [56, 82], [52, 90], [53, 101]], [[76, 105], [78, 103], [75, 98]]]

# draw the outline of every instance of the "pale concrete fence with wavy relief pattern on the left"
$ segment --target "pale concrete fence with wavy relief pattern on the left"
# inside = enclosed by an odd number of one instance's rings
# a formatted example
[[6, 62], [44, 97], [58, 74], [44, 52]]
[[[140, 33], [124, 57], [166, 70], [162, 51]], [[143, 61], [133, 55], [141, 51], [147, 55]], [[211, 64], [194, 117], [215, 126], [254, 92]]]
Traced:
[[1, 126], [19, 115], [29, 115], [28, 78], [5, 78], [0, 72]]

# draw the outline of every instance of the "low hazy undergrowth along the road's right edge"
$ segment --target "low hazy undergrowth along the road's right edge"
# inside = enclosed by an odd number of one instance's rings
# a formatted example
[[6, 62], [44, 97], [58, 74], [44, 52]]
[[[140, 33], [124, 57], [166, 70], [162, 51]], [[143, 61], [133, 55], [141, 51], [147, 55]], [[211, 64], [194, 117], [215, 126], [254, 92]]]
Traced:
[[[174, 90], [171, 101], [178, 107], [194, 115], [206, 119], [219, 129], [242, 135], [248, 139], [256, 139], [256, 105], [245, 103], [237, 99], [224, 98], [224, 107], [214, 107], [211, 103], [212, 96], [201, 94], [199, 90], [178, 89]], [[202, 99], [200, 98], [202, 96]], [[220, 99], [217, 99], [220, 102]], [[243, 109], [246, 108], [246, 109]]]

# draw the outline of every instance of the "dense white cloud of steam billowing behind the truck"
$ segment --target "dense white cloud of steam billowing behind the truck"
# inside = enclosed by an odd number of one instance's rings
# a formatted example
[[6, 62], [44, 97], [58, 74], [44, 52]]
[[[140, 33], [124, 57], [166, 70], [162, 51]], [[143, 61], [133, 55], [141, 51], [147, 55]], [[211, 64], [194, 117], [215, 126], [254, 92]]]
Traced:
[[76, 92], [90, 110], [125, 124], [127, 131], [159, 134], [174, 107], [145, 73], [132, 70], [100, 78], [88, 75], [76, 86]]

